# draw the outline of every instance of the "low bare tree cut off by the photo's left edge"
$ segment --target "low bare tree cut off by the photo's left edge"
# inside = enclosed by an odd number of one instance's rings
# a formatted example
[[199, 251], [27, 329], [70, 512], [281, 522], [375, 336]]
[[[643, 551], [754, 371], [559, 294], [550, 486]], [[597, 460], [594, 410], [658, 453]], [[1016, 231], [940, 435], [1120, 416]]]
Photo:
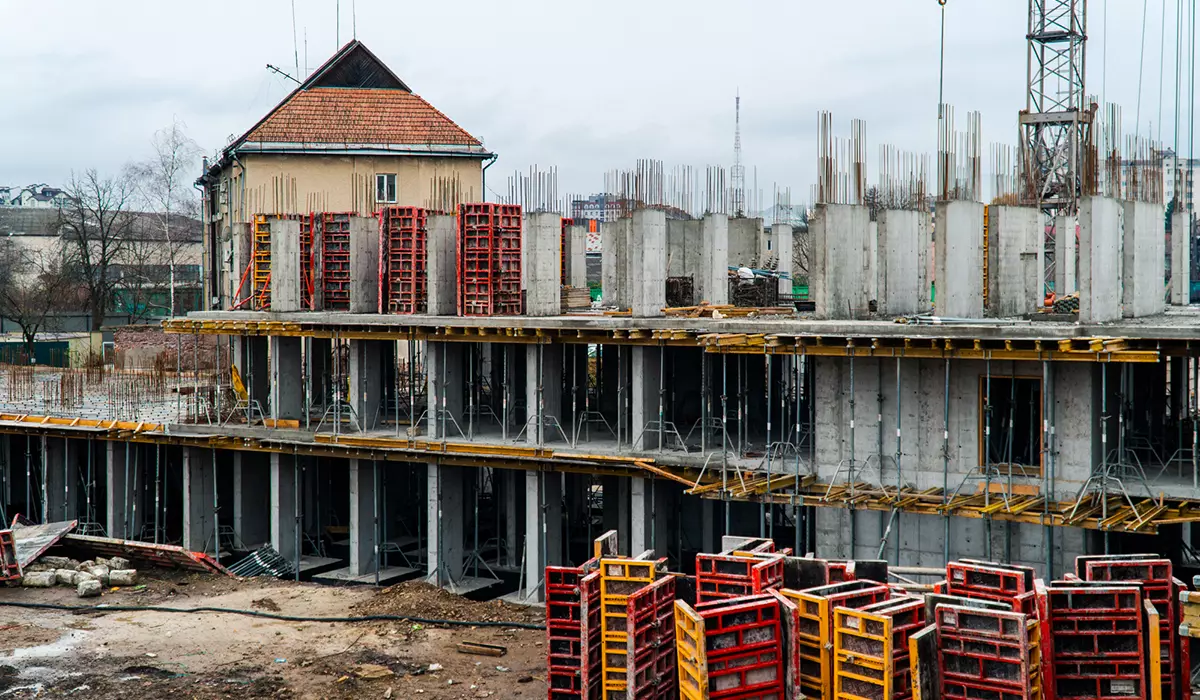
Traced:
[[20, 327], [29, 358], [49, 316], [70, 306], [74, 289], [64, 261], [58, 240], [41, 250], [13, 238], [0, 244], [0, 317]]

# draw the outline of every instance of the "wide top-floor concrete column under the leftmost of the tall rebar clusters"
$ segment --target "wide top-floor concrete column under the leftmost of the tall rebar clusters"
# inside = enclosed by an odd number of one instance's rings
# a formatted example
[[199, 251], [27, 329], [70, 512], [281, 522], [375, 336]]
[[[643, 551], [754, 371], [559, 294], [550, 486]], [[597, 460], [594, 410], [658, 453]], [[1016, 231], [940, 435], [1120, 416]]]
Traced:
[[870, 287], [870, 213], [865, 207], [818, 204], [809, 231], [809, 298], [817, 318], [863, 312]]

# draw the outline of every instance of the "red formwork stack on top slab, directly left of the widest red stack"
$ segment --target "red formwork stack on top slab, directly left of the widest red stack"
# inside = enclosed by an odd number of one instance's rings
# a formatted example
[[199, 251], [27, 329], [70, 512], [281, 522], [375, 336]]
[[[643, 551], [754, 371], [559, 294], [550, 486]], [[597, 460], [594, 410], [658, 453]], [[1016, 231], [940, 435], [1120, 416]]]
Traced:
[[418, 207], [379, 211], [379, 313], [425, 313], [426, 221]]

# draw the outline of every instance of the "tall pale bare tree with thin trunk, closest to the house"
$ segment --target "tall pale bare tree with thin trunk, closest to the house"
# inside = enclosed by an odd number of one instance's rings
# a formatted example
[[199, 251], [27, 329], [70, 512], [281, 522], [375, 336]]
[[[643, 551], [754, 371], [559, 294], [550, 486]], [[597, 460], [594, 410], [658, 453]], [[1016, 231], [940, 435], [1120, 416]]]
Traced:
[[156, 131], [150, 139], [154, 155], [132, 166], [139, 198], [146, 211], [155, 215], [162, 231], [160, 243], [167, 258], [170, 316], [179, 311], [175, 303], [176, 256], [187, 243], [185, 232], [173, 225], [182, 216], [198, 219], [200, 213], [200, 198], [192, 187], [191, 175], [196, 170], [196, 162], [202, 151], [200, 146], [187, 136], [186, 128], [187, 125], [175, 119], [170, 126]]

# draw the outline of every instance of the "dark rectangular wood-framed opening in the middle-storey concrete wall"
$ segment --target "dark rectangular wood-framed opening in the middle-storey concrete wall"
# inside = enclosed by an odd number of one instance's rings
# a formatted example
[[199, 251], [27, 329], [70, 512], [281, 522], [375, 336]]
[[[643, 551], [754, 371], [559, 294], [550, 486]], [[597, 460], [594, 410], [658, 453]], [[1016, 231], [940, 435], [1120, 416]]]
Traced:
[[1042, 379], [992, 376], [989, 382], [979, 377], [979, 427], [982, 465], [1013, 474], [1040, 474]]

